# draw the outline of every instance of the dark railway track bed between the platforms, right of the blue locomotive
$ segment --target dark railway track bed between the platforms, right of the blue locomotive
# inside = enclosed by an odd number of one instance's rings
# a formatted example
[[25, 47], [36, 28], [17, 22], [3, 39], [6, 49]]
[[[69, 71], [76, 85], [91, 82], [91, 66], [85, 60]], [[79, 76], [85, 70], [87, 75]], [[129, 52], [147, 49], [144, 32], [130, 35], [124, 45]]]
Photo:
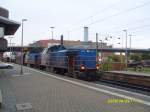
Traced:
[[102, 72], [99, 81], [135, 90], [150, 92], [149, 74], [130, 72]]

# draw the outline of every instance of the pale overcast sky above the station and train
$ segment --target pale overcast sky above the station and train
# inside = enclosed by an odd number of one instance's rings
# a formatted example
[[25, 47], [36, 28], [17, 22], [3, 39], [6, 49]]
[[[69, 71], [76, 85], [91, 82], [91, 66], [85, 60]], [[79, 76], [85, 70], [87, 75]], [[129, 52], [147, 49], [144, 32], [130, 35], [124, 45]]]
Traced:
[[[108, 44], [124, 47], [122, 30], [127, 29], [133, 35], [133, 48], [150, 48], [150, 0], [1, 0], [0, 6], [9, 10], [12, 20], [28, 19], [25, 45], [50, 39], [52, 26], [55, 39], [63, 34], [65, 40], [83, 40], [83, 27], [88, 26], [89, 40], [95, 41], [95, 33], [99, 40], [111, 35]], [[20, 29], [12, 40], [16, 45], [21, 41]]]

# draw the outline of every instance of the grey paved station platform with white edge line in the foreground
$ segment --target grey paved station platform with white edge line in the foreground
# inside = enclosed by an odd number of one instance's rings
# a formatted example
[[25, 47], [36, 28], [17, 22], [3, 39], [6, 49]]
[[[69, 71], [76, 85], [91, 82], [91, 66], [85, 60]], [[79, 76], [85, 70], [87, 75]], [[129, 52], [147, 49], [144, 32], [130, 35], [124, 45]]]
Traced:
[[0, 70], [0, 89], [3, 94], [0, 112], [16, 112], [16, 105], [19, 104], [32, 106], [33, 112], [150, 111], [149, 96], [133, 97], [124, 92], [96, 86], [93, 82], [54, 75], [28, 67], [23, 67], [24, 74], [20, 75], [20, 66], [13, 66], [13, 69]]

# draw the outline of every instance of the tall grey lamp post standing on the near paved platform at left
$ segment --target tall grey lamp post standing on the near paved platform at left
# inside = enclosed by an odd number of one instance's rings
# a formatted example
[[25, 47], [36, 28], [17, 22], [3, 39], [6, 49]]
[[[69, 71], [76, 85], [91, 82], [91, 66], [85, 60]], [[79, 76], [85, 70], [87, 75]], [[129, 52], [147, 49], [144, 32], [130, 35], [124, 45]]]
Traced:
[[21, 25], [22, 25], [22, 33], [21, 33], [21, 70], [20, 74], [23, 74], [23, 23], [27, 21], [27, 19], [22, 19]]

